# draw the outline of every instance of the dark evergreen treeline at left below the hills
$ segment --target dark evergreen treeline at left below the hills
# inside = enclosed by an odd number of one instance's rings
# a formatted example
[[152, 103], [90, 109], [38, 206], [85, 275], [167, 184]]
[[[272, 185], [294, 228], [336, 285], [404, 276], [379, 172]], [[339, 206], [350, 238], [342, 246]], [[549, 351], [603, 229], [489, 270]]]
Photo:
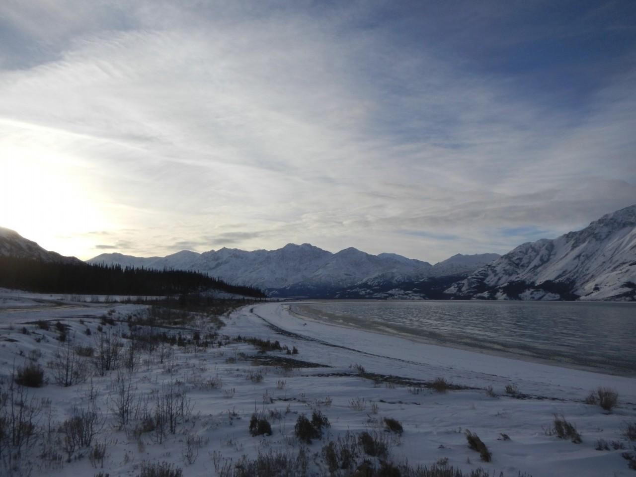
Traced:
[[203, 273], [184, 270], [121, 268], [120, 265], [47, 263], [0, 257], [0, 287], [41, 293], [174, 295], [217, 289], [262, 298], [254, 287], [230, 285]]

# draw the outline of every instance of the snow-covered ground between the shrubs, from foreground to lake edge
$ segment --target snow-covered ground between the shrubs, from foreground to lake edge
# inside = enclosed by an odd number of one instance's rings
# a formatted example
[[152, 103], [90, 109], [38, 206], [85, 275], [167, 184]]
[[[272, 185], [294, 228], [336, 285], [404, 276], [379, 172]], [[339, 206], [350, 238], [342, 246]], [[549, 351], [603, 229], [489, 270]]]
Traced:
[[[93, 375], [92, 382], [62, 387], [53, 382], [53, 370], [46, 365], [55, 361], [55, 351], [64, 349], [68, 342], [57, 339], [57, 321], [67, 328], [66, 339], [73, 347], [97, 349], [100, 336], [130, 333], [127, 317], [145, 317], [146, 307], [116, 303], [49, 303], [43, 307], [42, 300], [46, 299], [23, 296], [18, 301], [21, 309], [0, 309], [4, 389], [13, 366], [24, 366], [29, 356], [41, 354], [38, 362], [49, 379], [44, 387], [29, 388], [38, 404], [38, 425], [44, 429], [36, 444], [25, 451], [22, 462], [33, 476], [93, 476], [100, 471], [111, 476], [136, 476], [144, 460], [172, 462], [183, 468], [185, 476], [231, 476], [224, 468], [235, 468], [243, 456], [255, 459], [259, 453], [270, 452], [284, 452], [294, 459], [304, 452], [308, 475], [329, 475], [321, 459], [323, 446], [344, 439], [348, 432], [357, 436], [364, 431], [386, 441], [388, 460], [394, 464], [408, 461], [410, 466], [432, 466], [448, 459], [446, 465], [464, 472], [483, 467], [497, 476], [628, 476], [634, 472], [621, 457], [621, 453], [633, 453], [635, 444], [623, 437], [626, 424], [636, 422], [633, 378], [331, 326], [289, 312], [290, 303], [262, 303], [225, 317], [226, 324], [220, 330], [213, 319], [203, 315], [179, 329], [163, 329], [181, 333], [186, 345], [173, 346], [170, 355], [159, 349], [151, 353], [141, 350], [134, 372], [120, 368], [106, 371], [103, 377]], [[108, 324], [110, 319], [114, 324]], [[39, 328], [35, 324], [38, 320], [50, 321], [50, 329]], [[91, 330], [90, 335], [86, 335], [86, 329]], [[202, 339], [206, 333], [219, 335], [212, 346], [202, 347], [190, 340], [195, 331]], [[298, 354], [258, 354], [253, 345], [236, 340], [239, 335], [279, 340], [290, 350], [296, 347]], [[130, 340], [121, 343], [127, 350]], [[323, 366], [285, 361], [289, 358]], [[435, 392], [427, 383], [436, 378], [445, 378], [464, 389]], [[504, 391], [506, 385], [513, 384], [518, 389], [516, 397]], [[118, 422], [117, 390], [122, 386], [132, 396], [130, 402], [145, 402], [152, 411], [170, 385], [172, 389], [183, 386], [191, 404], [191, 412], [177, 418], [174, 434], [166, 432], [158, 438], [156, 431], [139, 432], [141, 411], [136, 417], [131, 411], [126, 424]], [[497, 396], [485, 391], [489, 386]], [[619, 403], [611, 413], [583, 403], [598, 386], [618, 391]], [[86, 410], [93, 402], [100, 422], [104, 420], [92, 441], [93, 447], [95, 443], [106, 445], [103, 469], [100, 464], [93, 468], [88, 449], [74, 450], [71, 462], [66, 462], [64, 440], [58, 432], [62, 422], [73, 415], [73, 406]], [[135, 406], [133, 410], [139, 409]], [[311, 417], [314, 410], [321, 411], [331, 427], [325, 429], [322, 439], [301, 445], [294, 436], [294, 424], [299, 415]], [[265, 413], [272, 426], [271, 436], [250, 435], [249, 421], [254, 411]], [[583, 442], [575, 444], [549, 435], [546, 431], [551, 429], [555, 415], [563, 415], [576, 425]], [[383, 418], [401, 422], [403, 434], [385, 431]], [[479, 453], [469, 449], [464, 434], [467, 429], [487, 445], [492, 462], [481, 462]], [[504, 440], [502, 434], [509, 439]], [[596, 450], [598, 439], [607, 441], [611, 450]], [[612, 448], [612, 443], [619, 448]], [[52, 459], [55, 452], [62, 457]], [[358, 462], [368, 459], [378, 463], [377, 458], [364, 455], [361, 448], [358, 452]], [[38, 457], [43, 454], [46, 459]]]

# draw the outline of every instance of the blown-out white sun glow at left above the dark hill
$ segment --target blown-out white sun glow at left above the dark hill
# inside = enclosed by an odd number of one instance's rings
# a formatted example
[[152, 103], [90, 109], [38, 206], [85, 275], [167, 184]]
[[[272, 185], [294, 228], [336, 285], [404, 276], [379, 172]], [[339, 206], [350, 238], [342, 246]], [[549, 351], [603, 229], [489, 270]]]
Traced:
[[54, 151], [0, 146], [0, 226], [61, 254], [90, 254], [82, 234], [104, 230], [107, 220], [85, 179]]

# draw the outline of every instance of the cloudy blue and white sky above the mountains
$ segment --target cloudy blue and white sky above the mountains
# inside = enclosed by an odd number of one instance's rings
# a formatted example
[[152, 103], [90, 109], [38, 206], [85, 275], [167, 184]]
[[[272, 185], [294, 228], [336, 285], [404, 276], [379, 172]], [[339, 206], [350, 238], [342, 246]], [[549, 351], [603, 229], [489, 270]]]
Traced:
[[636, 3], [4, 0], [0, 226], [435, 263], [636, 204]]

